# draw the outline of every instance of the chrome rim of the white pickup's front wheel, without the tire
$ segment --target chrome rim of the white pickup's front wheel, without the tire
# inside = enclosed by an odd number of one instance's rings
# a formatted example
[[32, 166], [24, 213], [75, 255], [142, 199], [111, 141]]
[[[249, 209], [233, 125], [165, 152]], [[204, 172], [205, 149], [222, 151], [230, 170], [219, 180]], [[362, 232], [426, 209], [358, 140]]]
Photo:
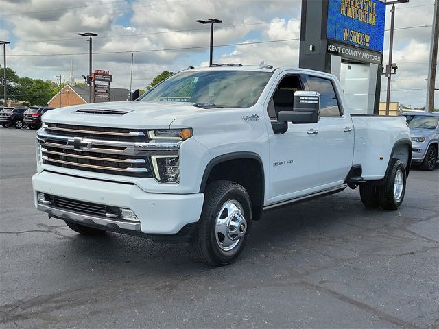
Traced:
[[228, 200], [215, 219], [215, 239], [220, 249], [230, 252], [246, 234], [247, 221], [244, 210], [236, 200]]

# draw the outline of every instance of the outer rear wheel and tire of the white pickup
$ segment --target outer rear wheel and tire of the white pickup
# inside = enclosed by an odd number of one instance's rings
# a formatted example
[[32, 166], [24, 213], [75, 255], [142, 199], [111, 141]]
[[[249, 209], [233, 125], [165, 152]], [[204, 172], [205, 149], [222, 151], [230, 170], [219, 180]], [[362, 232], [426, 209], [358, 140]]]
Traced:
[[379, 205], [385, 210], [396, 210], [401, 206], [407, 184], [405, 167], [401, 160], [392, 162], [384, 186], [377, 187]]

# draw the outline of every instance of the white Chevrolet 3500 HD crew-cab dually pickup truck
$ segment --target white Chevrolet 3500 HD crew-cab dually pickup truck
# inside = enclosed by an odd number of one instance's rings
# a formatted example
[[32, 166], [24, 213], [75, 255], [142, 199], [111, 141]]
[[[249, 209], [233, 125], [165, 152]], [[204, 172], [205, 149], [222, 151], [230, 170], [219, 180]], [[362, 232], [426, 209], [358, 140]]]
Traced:
[[225, 265], [265, 210], [346, 186], [395, 210], [411, 157], [405, 119], [351, 114], [333, 75], [222, 64], [137, 101], [47, 112], [32, 184], [36, 208], [76, 232], [190, 242]]

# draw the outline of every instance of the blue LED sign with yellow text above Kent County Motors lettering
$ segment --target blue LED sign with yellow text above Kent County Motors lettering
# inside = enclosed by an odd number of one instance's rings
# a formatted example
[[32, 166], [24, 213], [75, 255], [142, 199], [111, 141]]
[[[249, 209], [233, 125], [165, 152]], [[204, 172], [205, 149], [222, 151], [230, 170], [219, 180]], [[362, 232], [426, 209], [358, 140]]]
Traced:
[[385, 3], [380, 0], [329, 0], [327, 52], [381, 64]]

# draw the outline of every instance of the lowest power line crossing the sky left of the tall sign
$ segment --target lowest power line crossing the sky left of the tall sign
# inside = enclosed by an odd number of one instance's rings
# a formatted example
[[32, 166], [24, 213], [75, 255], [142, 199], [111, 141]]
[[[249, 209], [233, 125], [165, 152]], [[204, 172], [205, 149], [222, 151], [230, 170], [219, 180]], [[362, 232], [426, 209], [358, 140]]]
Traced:
[[[213, 47], [230, 47], [230, 46], [240, 46], [240, 45], [260, 45], [263, 43], [274, 43], [274, 42], [287, 42], [287, 41], [298, 41], [300, 38], [294, 39], [281, 39], [281, 40], [265, 40], [265, 41], [253, 41], [253, 42], [238, 42], [238, 43], [229, 43], [225, 45], [214, 45]], [[126, 51], [101, 51], [94, 52], [95, 55], [108, 55], [112, 53], [152, 53], [156, 51], [178, 51], [178, 50], [191, 50], [191, 49], [203, 49], [209, 48], [209, 46], [193, 46], [193, 47], [181, 47], [181, 48], [161, 48], [161, 49], [145, 49], [145, 50], [126, 50]], [[87, 55], [88, 53], [30, 53], [30, 54], [21, 54], [21, 55], [8, 55], [8, 57], [36, 57], [36, 56], [80, 56]]]

